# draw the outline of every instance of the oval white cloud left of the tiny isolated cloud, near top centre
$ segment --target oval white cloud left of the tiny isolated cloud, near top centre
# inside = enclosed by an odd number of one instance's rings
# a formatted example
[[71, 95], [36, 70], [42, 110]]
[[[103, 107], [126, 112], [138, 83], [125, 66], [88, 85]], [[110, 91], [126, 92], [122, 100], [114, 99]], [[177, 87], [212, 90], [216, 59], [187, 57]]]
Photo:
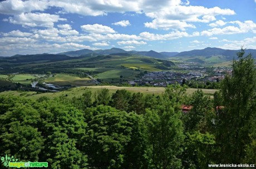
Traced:
[[114, 29], [108, 26], [103, 26], [102, 24], [85, 24], [81, 26], [82, 30], [85, 32], [90, 32], [90, 33], [102, 33], [102, 34], [107, 34], [107, 33], [115, 33]]

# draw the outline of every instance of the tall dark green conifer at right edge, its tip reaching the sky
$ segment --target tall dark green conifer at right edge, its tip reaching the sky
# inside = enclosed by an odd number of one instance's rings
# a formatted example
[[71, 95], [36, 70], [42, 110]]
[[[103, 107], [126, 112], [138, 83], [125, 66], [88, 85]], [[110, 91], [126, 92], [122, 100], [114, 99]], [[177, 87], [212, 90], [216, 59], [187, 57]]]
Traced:
[[[221, 83], [223, 113], [216, 117], [216, 142], [221, 145], [220, 162], [242, 163], [248, 146], [255, 145], [256, 71], [252, 54], [242, 48], [233, 61], [232, 75]], [[250, 156], [256, 156], [255, 152]]]

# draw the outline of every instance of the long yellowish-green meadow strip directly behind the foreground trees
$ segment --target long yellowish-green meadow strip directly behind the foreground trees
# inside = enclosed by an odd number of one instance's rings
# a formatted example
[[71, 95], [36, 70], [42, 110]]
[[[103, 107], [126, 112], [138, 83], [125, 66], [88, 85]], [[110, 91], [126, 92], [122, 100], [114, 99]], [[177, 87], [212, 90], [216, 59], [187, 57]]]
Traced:
[[[103, 88], [107, 88], [110, 91], [110, 94], [115, 93], [116, 90], [121, 90], [125, 89], [130, 92], [141, 92], [144, 94], [155, 94], [155, 95], [160, 95], [165, 91], [164, 87], [118, 87], [118, 86], [88, 86], [88, 87], [75, 87], [71, 88], [70, 90], [67, 91], [61, 91], [61, 92], [56, 92], [56, 93], [41, 93], [41, 94], [36, 94], [36, 92], [18, 92], [18, 91], [4, 91], [1, 92], [0, 95], [6, 95], [6, 96], [25, 96], [27, 98], [31, 98], [32, 100], [36, 100], [37, 98], [40, 98], [42, 96], [46, 96], [48, 98], [54, 98], [54, 97], [60, 97], [62, 95], [67, 96], [67, 98], [72, 98], [72, 97], [79, 97], [82, 96], [82, 93], [86, 90], [89, 89], [92, 91], [92, 93], [95, 93], [96, 91], [99, 91]], [[188, 94], [191, 94], [195, 92], [197, 89], [196, 88], [188, 88], [186, 92]], [[215, 91], [218, 90], [211, 90], [211, 89], [202, 89], [203, 92], [206, 95], [213, 95]]]

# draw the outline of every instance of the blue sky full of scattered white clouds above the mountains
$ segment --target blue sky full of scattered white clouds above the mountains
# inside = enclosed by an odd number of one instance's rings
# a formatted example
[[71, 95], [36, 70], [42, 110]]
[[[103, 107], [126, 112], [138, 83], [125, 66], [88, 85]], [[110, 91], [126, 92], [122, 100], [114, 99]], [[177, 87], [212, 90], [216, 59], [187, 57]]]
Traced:
[[0, 56], [256, 49], [256, 0], [0, 1]]

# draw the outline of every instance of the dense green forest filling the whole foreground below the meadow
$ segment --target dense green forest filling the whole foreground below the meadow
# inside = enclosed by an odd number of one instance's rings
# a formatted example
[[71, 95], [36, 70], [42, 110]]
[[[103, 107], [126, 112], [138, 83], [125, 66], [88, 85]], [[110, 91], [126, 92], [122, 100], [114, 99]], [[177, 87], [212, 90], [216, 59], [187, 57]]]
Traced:
[[[36, 101], [0, 96], [1, 156], [49, 168], [208, 168], [256, 164], [256, 70], [242, 49], [214, 99], [186, 85], [163, 95], [86, 90]], [[183, 112], [182, 107], [191, 107]], [[3, 166], [3, 164], [2, 164]]]

